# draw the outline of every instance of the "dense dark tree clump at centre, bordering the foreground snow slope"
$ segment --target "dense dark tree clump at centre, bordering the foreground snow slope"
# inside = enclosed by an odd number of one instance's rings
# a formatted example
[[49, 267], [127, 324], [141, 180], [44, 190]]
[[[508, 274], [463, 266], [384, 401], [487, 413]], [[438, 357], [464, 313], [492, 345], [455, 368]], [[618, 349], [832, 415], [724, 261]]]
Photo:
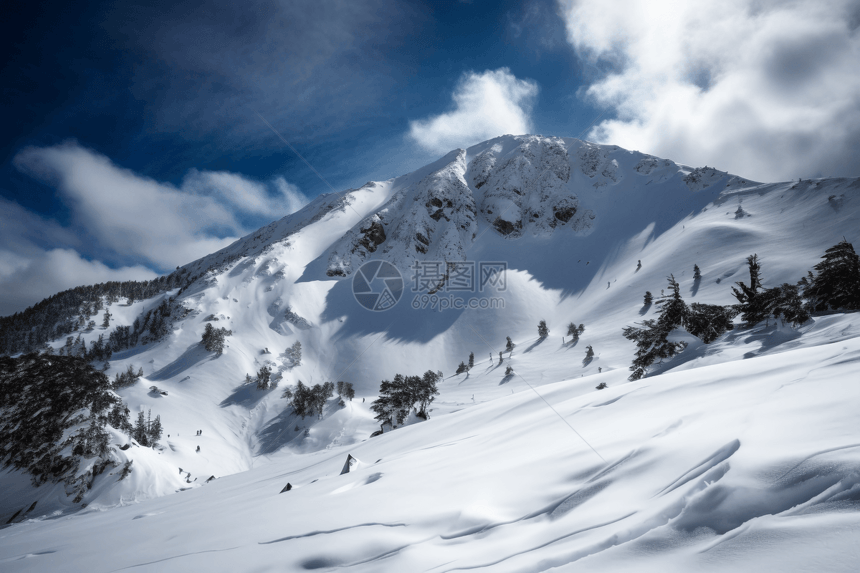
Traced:
[[426, 420], [427, 408], [439, 395], [436, 383], [441, 379], [442, 373], [432, 370], [428, 370], [423, 376], [395, 374], [391, 381], [382, 381], [379, 386], [379, 398], [373, 401], [370, 409], [376, 414], [375, 418], [382, 426], [402, 425], [413, 409], [419, 417]]

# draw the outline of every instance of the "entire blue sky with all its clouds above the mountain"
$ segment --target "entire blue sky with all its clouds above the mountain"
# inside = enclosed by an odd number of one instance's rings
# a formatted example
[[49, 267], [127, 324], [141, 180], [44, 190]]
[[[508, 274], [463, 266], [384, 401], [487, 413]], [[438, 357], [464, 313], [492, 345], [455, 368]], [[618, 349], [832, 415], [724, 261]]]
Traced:
[[759, 180], [858, 175], [860, 3], [17, 3], [0, 315], [147, 278], [503, 133]]

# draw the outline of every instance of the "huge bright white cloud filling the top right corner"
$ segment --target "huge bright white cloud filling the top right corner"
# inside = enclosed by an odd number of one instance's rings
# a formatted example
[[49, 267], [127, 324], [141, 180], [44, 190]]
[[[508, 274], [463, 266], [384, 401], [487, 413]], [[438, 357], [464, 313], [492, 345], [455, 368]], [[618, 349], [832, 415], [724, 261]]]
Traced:
[[759, 180], [858, 175], [856, 0], [559, 0], [568, 39], [611, 71], [589, 137]]

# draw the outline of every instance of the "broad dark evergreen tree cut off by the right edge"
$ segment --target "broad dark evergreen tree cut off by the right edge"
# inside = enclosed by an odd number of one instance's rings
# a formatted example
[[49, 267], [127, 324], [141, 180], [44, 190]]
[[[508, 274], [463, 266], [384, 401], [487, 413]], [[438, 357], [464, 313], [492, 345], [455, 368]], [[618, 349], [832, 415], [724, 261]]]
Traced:
[[860, 310], [860, 257], [842, 239], [824, 252], [816, 274], [804, 291], [813, 311]]

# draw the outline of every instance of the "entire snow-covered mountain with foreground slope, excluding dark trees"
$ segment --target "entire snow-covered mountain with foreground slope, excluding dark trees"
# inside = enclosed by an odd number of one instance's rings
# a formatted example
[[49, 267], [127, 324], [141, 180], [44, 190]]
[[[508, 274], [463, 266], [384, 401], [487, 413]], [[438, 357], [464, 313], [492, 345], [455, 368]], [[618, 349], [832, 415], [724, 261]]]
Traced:
[[[183, 267], [197, 279], [181, 291], [121, 300], [110, 327], [82, 334], [92, 345], [168, 299], [183, 309], [108, 371], [143, 369], [119, 393], [134, 414], [160, 415], [162, 447], [117, 449], [131, 474], [94, 477], [78, 503], [62, 484], [4, 470], [0, 518], [15, 525], [0, 531], [0, 563], [853, 570], [860, 316], [739, 325], [636, 382], [621, 330], [656, 315], [642, 297], [670, 273], [690, 303], [736, 302], [730, 286], [753, 253], [765, 286], [795, 283], [843, 237], [860, 244], [858, 192], [860, 179], [760, 184], [616, 146], [503, 136], [320, 196]], [[405, 280], [384, 312], [353, 296], [371, 260]], [[431, 292], [415, 289], [434, 263]], [[473, 263], [504, 263], [503, 288], [479, 289], [478, 275], [455, 288]], [[452, 297], [477, 302], [441, 310]], [[570, 322], [585, 326], [576, 343], [562, 340]], [[232, 331], [220, 356], [200, 345], [207, 324]], [[499, 364], [506, 337], [516, 346]], [[298, 365], [286, 352], [297, 341]], [[454, 375], [470, 352], [475, 367]], [[245, 383], [263, 366], [276, 388]], [[426, 370], [444, 373], [430, 419], [371, 439], [380, 381]], [[350, 382], [356, 397], [302, 419], [282, 397], [300, 380]], [[341, 475], [348, 454], [358, 461]], [[106, 547], [122, 549], [106, 560]]]

